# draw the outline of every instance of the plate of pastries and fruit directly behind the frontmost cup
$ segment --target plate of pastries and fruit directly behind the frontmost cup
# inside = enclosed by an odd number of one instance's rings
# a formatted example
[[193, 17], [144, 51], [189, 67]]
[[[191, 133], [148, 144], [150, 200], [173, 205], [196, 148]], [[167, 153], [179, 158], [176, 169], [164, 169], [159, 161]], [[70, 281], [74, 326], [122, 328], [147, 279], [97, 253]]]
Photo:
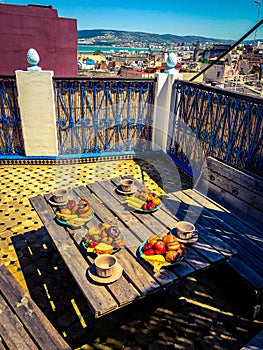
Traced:
[[82, 238], [82, 246], [89, 253], [114, 254], [125, 245], [125, 238], [119, 228], [107, 222], [91, 226]]

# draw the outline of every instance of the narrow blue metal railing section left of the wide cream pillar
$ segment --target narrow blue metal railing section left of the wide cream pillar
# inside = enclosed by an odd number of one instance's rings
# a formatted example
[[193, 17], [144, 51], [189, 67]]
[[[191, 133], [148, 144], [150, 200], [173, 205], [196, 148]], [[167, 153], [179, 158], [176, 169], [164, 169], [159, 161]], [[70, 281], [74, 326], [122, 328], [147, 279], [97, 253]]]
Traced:
[[0, 77], [0, 155], [23, 155], [24, 145], [14, 76]]

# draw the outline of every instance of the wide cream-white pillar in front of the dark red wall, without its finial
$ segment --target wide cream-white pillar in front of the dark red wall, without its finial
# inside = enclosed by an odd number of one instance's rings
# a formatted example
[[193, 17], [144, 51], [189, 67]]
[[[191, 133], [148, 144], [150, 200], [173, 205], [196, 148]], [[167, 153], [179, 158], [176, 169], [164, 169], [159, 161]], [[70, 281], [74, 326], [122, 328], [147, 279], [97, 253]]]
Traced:
[[52, 77], [52, 71], [16, 71], [26, 156], [58, 155]]

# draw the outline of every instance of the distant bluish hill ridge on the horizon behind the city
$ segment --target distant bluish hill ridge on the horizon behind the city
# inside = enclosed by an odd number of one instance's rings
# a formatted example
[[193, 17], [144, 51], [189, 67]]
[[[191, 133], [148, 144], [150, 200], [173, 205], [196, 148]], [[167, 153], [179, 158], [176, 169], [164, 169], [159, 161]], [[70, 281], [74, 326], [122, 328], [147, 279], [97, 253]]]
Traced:
[[124, 45], [125, 43], [144, 43], [146, 45], [171, 45], [175, 43], [195, 44], [197, 40], [200, 43], [213, 42], [230, 44], [234, 41], [206, 38], [202, 36], [180, 36], [174, 34], [153, 34], [144, 32], [129, 32], [123, 30], [111, 29], [86, 29], [78, 31], [79, 39], [90, 39], [92, 45]]

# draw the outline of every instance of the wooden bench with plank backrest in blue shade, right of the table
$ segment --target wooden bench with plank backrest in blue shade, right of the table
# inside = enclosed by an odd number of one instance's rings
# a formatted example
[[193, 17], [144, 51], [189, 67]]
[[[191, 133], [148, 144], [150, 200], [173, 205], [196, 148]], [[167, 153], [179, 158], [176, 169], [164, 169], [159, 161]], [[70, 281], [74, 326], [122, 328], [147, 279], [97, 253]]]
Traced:
[[[226, 232], [222, 238], [232, 241], [238, 250], [233, 259], [222, 265], [228, 267], [222, 273], [248, 302], [252, 301], [255, 318], [263, 301], [263, 179], [208, 157], [195, 191], [207, 194], [219, 205], [214, 214]], [[222, 213], [220, 205], [224, 208]], [[236, 285], [236, 280], [241, 285]]]

